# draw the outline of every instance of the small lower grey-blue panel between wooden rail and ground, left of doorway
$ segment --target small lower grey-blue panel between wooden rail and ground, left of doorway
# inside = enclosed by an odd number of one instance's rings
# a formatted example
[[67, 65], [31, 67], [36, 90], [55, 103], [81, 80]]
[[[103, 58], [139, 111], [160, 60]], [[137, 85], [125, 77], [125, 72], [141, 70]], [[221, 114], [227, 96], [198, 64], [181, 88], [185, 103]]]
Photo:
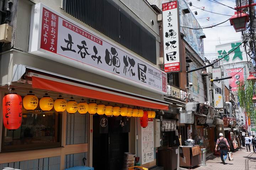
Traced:
[[88, 166], [87, 152], [65, 155], [65, 168], [71, 168], [74, 166], [84, 166], [83, 158], [86, 158], [85, 166]]

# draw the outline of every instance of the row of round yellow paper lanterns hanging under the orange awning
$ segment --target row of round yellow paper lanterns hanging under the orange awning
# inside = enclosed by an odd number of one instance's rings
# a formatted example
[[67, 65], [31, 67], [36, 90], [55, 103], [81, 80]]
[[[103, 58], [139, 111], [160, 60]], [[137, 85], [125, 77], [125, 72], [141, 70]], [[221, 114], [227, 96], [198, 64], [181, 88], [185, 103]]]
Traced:
[[[122, 115], [123, 117], [143, 117], [144, 111], [142, 109], [132, 109], [127, 107], [118, 107], [118, 106], [105, 106], [104, 104], [96, 104], [96, 103], [89, 103], [87, 104], [84, 99], [81, 100], [80, 103], [77, 103], [73, 97], [70, 98], [70, 100], [67, 102], [61, 95], [57, 98], [57, 100], [53, 101], [53, 99], [48, 95], [45, 94], [43, 98], [40, 99], [38, 102], [38, 98], [32, 94], [32, 91], [30, 91], [30, 94], [27, 94], [23, 98], [23, 106], [28, 111], [33, 111], [37, 108], [37, 105], [39, 103], [39, 107], [42, 109], [42, 111], [50, 111], [53, 107], [56, 112], [62, 113], [65, 110], [70, 113], [74, 114], [77, 111], [80, 114], [98, 114], [98, 115], [106, 115], [108, 117], [114, 116], [118, 117], [119, 115]], [[154, 111], [148, 111], [148, 118], [154, 118], [155, 112]]]

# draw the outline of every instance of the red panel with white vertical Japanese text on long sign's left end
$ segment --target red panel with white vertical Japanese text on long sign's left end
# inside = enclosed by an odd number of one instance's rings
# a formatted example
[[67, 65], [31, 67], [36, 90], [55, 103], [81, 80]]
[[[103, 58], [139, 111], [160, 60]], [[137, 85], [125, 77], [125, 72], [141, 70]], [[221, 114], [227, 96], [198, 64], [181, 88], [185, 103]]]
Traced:
[[41, 49], [57, 53], [58, 18], [58, 15], [43, 8]]

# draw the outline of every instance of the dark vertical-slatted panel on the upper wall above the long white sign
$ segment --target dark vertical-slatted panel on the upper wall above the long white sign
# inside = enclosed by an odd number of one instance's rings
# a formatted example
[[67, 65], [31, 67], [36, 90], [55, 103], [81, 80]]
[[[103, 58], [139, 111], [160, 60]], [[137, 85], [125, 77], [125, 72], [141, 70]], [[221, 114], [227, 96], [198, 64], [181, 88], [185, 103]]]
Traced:
[[156, 64], [156, 38], [112, 0], [63, 0], [70, 15]]

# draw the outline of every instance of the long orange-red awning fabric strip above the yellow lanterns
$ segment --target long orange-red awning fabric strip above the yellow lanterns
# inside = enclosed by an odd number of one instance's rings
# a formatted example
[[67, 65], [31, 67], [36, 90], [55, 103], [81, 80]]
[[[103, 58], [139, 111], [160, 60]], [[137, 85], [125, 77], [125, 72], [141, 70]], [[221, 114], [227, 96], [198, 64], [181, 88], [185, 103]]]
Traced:
[[32, 75], [32, 87], [36, 89], [56, 91], [70, 95], [93, 98], [96, 100], [110, 101], [152, 109], [168, 110], [169, 107], [169, 104], [165, 102], [150, 100], [150, 98], [144, 99], [140, 98], [139, 96], [134, 97], [127, 94], [97, 89], [94, 87], [90, 88], [79, 83], [57, 78], [49, 79], [46, 77], [41, 78]]

